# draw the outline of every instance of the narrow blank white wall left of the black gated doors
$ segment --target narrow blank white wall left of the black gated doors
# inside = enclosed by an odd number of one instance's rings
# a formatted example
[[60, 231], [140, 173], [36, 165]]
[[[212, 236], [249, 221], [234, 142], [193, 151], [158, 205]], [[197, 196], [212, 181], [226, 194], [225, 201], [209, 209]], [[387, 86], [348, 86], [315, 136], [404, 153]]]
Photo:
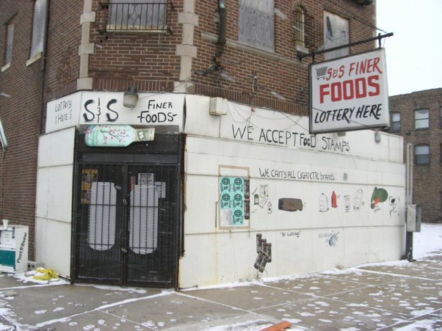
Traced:
[[39, 137], [35, 259], [70, 275], [75, 127]]

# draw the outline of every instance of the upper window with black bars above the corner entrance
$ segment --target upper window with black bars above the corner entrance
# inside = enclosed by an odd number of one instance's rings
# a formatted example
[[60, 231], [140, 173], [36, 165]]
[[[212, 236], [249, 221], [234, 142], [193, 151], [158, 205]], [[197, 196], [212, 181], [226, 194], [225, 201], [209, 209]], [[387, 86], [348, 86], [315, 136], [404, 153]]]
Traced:
[[166, 30], [167, 0], [110, 0], [106, 30]]

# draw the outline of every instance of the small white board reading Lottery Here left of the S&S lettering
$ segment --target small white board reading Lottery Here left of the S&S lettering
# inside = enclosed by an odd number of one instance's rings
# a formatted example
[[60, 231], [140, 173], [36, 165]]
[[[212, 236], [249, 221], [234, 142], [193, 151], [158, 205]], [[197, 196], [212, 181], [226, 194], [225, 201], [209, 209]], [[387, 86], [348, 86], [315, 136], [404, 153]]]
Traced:
[[78, 125], [81, 92], [48, 102], [46, 133]]

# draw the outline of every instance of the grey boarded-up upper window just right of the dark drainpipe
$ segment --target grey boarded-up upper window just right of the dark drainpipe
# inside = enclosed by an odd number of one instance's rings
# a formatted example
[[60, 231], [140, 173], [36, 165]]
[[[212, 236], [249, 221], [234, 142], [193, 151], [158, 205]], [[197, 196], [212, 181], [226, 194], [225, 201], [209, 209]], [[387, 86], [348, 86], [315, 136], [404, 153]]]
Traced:
[[240, 0], [238, 41], [273, 52], [273, 13], [273, 0]]

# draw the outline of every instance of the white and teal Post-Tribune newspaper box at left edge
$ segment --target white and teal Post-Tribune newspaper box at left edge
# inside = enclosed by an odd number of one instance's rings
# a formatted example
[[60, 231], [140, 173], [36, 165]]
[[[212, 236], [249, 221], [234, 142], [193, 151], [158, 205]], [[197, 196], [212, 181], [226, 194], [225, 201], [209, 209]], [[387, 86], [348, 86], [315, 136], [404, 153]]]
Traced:
[[0, 272], [28, 270], [29, 229], [25, 225], [0, 226]]

